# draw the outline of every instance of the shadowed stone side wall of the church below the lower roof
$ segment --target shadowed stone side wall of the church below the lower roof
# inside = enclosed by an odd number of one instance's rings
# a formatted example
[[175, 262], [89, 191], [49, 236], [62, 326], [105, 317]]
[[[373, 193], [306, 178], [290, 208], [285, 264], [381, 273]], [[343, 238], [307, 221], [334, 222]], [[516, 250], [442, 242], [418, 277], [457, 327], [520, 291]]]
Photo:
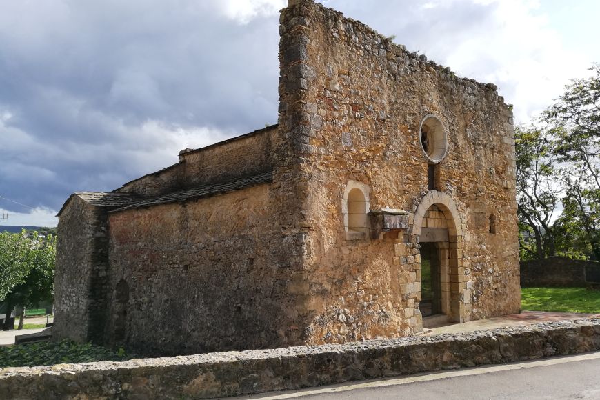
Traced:
[[[277, 186], [110, 214], [113, 296], [129, 289], [126, 347], [192, 354], [299, 341], [297, 296], [274, 219]], [[114, 338], [118, 299], [107, 328]]]

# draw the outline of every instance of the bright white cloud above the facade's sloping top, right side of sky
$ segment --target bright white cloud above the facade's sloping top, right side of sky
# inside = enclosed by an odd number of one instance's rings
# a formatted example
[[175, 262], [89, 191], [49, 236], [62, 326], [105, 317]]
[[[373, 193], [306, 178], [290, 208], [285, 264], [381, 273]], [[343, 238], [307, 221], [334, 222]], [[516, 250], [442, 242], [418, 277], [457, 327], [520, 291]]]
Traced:
[[[430, 0], [420, 7], [413, 1], [380, 1], [377, 8], [366, 8], [359, 0], [323, 3], [386, 36], [393, 34], [408, 50], [426, 54], [460, 76], [495, 83], [514, 105], [517, 123], [537, 117], [570, 79], [588, 76], [593, 57], [600, 57], [592, 35], [577, 37], [574, 46], [569, 32], [580, 22], [557, 18], [557, 6], [547, 1]], [[584, 8], [592, 15], [600, 11], [591, 1]], [[593, 20], [580, 17], [588, 26]]]

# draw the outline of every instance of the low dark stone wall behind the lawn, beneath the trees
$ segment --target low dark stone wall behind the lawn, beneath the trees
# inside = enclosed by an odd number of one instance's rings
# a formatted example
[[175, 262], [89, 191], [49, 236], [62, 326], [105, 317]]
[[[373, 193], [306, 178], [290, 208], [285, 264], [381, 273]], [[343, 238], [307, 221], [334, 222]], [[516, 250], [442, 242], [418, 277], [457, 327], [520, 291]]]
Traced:
[[600, 285], [600, 263], [549, 257], [521, 261], [521, 287]]

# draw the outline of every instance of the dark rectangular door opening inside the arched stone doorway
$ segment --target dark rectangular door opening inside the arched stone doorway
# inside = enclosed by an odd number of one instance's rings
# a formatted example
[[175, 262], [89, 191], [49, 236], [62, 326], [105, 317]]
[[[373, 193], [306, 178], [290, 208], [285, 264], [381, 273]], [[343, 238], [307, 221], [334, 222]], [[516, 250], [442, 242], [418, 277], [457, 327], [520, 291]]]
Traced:
[[421, 303], [423, 317], [441, 314], [441, 273], [439, 249], [434, 243], [421, 243]]

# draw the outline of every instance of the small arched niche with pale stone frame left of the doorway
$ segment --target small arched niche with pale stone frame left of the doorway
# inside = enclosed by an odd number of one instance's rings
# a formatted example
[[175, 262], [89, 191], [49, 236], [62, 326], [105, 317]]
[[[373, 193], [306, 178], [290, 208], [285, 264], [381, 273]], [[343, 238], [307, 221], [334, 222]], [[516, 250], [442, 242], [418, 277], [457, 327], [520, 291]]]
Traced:
[[369, 237], [369, 192], [369, 187], [361, 182], [349, 181], [346, 185], [341, 204], [346, 240]]

